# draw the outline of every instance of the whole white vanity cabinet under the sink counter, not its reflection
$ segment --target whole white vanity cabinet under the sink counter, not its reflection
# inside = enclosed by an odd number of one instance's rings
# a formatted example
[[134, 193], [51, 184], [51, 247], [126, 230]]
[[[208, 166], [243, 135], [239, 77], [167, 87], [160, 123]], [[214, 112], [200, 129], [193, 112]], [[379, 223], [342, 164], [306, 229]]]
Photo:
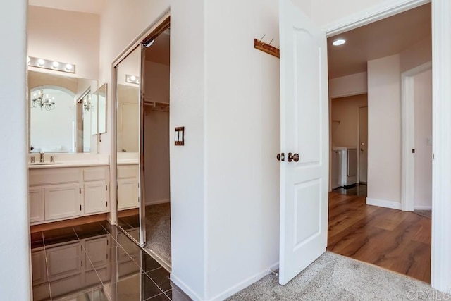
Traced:
[[30, 223], [109, 211], [109, 166], [30, 169]]

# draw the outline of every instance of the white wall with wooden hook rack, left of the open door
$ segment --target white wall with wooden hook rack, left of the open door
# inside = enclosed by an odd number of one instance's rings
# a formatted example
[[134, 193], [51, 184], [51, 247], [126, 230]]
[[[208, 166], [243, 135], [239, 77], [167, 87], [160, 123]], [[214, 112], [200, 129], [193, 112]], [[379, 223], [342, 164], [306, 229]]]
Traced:
[[206, 300], [219, 300], [278, 263], [279, 60], [253, 47], [278, 41], [278, 1], [216, 1], [206, 23]]

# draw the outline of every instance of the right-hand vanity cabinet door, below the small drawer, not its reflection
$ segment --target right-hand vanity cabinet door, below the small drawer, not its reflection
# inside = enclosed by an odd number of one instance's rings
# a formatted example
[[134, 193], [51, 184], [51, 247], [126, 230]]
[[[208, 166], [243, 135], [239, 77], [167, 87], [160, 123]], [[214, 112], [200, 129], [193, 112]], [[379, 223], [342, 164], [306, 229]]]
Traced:
[[85, 214], [108, 211], [108, 195], [104, 180], [87, 182], [84, 185]]

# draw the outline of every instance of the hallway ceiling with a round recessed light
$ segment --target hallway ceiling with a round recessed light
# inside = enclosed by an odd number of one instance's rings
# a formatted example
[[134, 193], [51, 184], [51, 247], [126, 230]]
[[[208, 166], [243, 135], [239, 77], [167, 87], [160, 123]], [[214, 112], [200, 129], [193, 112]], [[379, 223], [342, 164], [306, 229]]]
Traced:
[[[337, 38], [346, 44], [333, 46]], [[328, 75], [338, 78], [366, 71], [366, 62], [401, 51], [431, 38], [431, 4], [328, 38]]]

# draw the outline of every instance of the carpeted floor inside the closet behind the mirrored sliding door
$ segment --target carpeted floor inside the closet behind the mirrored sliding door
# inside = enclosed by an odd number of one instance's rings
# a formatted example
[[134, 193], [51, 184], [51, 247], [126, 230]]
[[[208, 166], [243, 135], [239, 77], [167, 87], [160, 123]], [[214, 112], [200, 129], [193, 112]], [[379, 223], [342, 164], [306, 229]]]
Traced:
[[146, 206], [146, 247], [171, 264], [171, 203]]

